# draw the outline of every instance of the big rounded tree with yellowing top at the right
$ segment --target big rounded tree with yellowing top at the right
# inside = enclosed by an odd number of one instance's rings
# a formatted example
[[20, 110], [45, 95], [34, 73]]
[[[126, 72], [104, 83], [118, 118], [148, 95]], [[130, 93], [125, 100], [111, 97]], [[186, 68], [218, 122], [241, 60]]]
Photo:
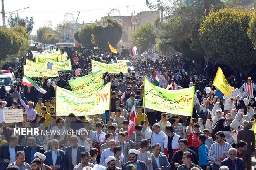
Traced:
[[202, 22], [199, 33], [206, 56], [248, 76], [251, 64], [256, 61], [256, 50], [247, 29], [250, 19], [255, 17], [255, 13], [242, 9], [211, 12]]

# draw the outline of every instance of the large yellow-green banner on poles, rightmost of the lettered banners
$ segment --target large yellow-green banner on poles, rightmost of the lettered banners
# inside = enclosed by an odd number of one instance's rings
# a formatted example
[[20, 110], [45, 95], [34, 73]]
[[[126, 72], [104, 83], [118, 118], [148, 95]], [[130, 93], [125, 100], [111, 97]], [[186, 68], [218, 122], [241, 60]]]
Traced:
[[181, 90], [166, 90], [154, 86], [147, 78], [144, 79], [144, 83], [143, 105], [145, 108], [171, 114], [192, 116], [194, 86]]

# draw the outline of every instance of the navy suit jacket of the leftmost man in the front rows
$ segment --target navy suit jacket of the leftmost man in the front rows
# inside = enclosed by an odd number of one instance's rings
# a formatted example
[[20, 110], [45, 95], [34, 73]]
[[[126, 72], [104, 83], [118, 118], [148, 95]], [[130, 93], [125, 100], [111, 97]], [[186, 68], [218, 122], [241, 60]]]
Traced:
[[[15, 153], [17, 153], [17, 151], [20, 151], [21, 147], [19, 145], [17, 145], [15, 147]], [[6, 170], [7, 166], [9, 165], [9, 163], [4, 163], [4, 159], [11, 159], [10, 157], [10, 151], [9, 151], [9, 143], [3, 144], [0, 147], [0, 170]]]

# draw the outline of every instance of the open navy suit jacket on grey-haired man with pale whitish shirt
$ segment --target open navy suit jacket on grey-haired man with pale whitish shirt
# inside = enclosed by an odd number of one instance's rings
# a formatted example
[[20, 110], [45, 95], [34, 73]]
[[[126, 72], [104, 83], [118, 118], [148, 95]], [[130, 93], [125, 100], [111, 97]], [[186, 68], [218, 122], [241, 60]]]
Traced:
[[[77, 146], [77, 155], [76, 155], [76, 165], [81, 162], [81, 152], [85, 151], [85, 147], [78, 145]], [[72, 145], [66, 148], [66, 168], [68, 170], [72, 169]]]

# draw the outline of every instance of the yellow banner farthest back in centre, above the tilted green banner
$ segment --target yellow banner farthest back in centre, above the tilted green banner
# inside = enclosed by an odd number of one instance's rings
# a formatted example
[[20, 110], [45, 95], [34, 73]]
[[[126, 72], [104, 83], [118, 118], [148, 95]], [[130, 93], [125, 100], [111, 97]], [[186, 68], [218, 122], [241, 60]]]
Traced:
[[100, 70], [109, 73], [128, 73], [126, 61], [121, 61], [114, 64], [105, 64], [92, 60], [92, 72], [97, 72]]

